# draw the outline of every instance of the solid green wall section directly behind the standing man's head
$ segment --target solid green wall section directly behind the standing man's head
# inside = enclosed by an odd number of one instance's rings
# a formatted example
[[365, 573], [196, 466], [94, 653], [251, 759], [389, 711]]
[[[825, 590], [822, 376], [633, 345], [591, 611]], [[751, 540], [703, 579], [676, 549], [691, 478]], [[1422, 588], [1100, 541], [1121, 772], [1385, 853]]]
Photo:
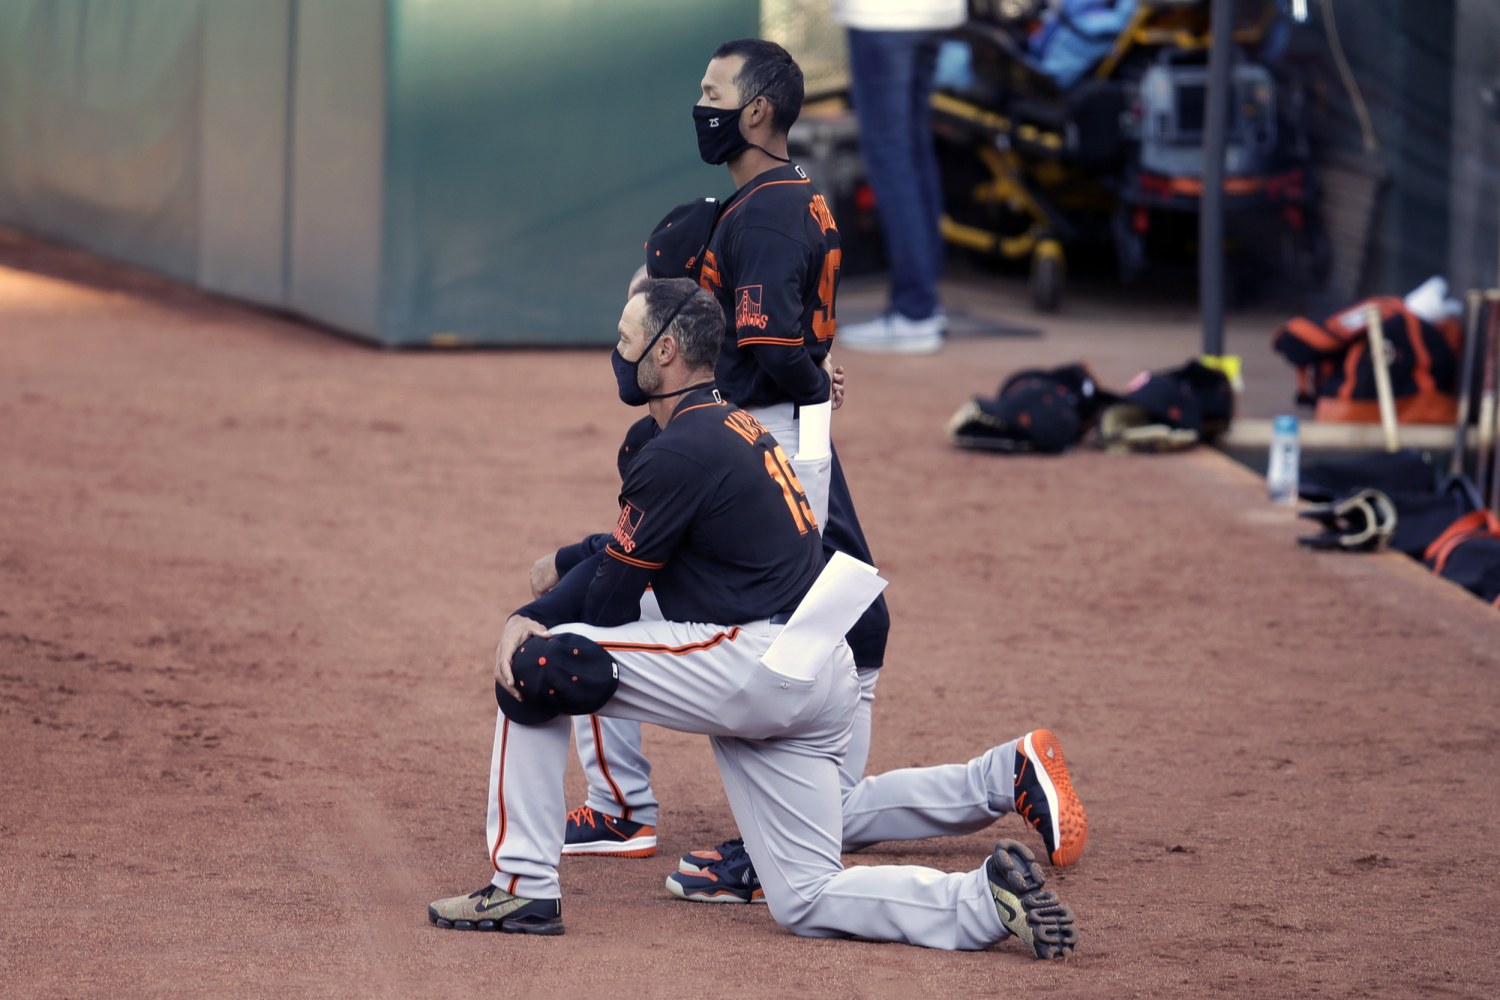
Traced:
[[726, 196], [692, 106], [752, 0], [392, 0], [390, 342], [608, 343], [666, 211]]

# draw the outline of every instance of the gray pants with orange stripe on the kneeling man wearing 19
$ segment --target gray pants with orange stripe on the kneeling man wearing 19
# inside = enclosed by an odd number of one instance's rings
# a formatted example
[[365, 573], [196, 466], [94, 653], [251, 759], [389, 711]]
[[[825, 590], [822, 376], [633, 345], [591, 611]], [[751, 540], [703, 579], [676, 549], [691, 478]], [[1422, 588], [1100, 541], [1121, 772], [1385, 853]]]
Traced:
[[[854, 658], [840, 643], [812, 681], [774, 673], [760, 657], [780, 631], [632, 622], [560, 625], [600, 643], [620, 688], [600, 712], [706, 735], [771, 916], [810, 937], [862, 937], [940, 949], [981, 949], [1004, 937], [984, 867], [946, 874], [915, 865], [840, 864], [838, 762], [860, 702]], [[572, 721], [518, 726], [496, 714], [488, 849], [494, 883], [558, 898], [567, 814], [562, 775]]]

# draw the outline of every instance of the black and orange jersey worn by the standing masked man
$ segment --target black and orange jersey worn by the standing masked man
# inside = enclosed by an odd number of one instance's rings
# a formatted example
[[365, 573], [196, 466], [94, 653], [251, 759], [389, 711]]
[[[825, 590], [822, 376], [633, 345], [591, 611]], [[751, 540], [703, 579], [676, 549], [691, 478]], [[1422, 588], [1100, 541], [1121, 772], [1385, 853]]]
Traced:
[[789, 163], [735, 192], [718, 213], [699, 283], [724, 309], [717, 379], [740, 406], [820, 403], [843, 250], [828, 202]]

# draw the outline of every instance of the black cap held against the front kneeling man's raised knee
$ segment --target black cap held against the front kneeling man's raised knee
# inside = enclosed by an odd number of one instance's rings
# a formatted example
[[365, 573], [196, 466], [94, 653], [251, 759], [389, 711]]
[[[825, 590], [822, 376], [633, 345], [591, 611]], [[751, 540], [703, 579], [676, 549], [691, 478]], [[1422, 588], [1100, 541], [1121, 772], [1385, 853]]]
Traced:
[[603, 646], [574, 633], [532, 636], [510, 658], [516, 700], [495, 682], [495, 702], [513, 723], [536, 726], [558, 715], [591, 715], [615, 697], [620, 667]]

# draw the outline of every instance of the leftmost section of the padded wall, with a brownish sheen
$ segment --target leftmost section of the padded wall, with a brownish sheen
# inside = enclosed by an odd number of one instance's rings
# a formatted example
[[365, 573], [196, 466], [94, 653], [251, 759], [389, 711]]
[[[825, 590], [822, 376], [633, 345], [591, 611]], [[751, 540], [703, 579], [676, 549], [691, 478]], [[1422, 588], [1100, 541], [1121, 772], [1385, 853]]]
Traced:
[[0, 220], [195, 280], [196, 0], [0, 4]]

